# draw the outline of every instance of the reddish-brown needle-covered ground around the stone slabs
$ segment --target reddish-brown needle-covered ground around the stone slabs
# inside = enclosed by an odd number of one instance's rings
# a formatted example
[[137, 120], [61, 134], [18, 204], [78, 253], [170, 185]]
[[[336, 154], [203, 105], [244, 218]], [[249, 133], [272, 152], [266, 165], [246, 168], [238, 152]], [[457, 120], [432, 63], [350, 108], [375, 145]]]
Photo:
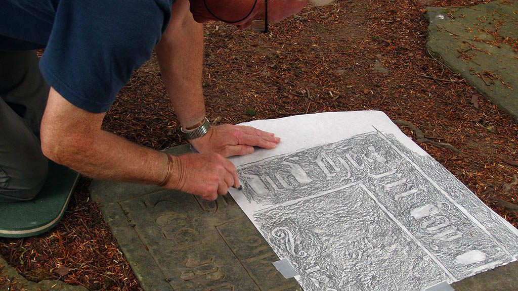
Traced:
[[[307, 7], [273, 25], [269, 35], [207, 24], [203, 86], [209, 117], [235, 124], [324, 111], [384, 111], [518, 226], [518, 125], [425, 51], [426, 6], [483, 2], [339, 0]], [[135, 72], [104, 128], [154, 149], [185, 142], [154, 60]], [[81, 179], [54, 230], [0, 239], [0, 254], [32, 281], [139, 290], [88, 184]], [[0, 275], [2, 284], [10, 283]]]

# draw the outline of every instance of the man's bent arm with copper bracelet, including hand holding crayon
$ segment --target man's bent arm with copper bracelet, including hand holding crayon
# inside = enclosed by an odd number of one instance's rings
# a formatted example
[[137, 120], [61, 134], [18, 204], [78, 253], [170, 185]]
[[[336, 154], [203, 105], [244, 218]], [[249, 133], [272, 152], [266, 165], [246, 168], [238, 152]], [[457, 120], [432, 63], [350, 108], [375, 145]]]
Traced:
[[[92, 178], [157, 184], [166, 177], [166, 154], [101, 129], [105, 113], [69, 103], [53, 88], [41, 121], [41, 149], [54, 162]], [[239, 186], [234, 165], [219, 154], [175, 156], [165, 187], [214, 200]]]

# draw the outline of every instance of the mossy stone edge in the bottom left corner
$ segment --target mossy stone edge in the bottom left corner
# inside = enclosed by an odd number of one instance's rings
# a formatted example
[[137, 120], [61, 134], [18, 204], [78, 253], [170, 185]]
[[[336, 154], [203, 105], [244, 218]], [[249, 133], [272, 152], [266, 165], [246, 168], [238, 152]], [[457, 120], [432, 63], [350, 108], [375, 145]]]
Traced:
[[3, 267], [2, 277], [9, 280], [14, 279], [14, 281], [20, 284], [20, 286], [17, 287], [26, 289], [27, 291], [88, 291], [88, 289], [83, 286], [68, 285], [59, 280], [43, 280], [39, 283], [28, 281], [22, 275], [20, 275], [15, 268], [9, 266], [9, 264], [7, 264], [7, 262], [2, 257], [0, 257], [0, 267]]

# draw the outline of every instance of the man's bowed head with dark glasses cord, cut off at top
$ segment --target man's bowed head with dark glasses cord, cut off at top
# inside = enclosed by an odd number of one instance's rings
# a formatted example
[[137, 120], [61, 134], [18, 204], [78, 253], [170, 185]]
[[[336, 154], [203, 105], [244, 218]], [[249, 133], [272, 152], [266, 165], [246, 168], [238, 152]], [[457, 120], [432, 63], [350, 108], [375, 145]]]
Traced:
[[[225, 20], [244, 30], [253, 20], [264, 19], [264, 0], [189, 0], [196, 22]], [[300, 11], [308, 0], [268, 0], [268, 21], [279, 22]], [[255, 6], [254, 6], [255, 5]], [[247, 17], [248, 15], [248, 17]], [[243, 19], [244, 18], [244, 19]]]

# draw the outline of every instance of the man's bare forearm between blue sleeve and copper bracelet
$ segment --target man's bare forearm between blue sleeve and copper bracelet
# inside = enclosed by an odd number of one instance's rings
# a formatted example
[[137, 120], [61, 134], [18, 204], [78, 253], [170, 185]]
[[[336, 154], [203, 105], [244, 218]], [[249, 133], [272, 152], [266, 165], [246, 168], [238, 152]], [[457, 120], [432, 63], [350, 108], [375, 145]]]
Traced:
[[166, 155], [101, 130], [104, 115], [77, 108], [51, 88], [41, 121], [42, 151], [93, 178], [159, 183], [168, 170]]

